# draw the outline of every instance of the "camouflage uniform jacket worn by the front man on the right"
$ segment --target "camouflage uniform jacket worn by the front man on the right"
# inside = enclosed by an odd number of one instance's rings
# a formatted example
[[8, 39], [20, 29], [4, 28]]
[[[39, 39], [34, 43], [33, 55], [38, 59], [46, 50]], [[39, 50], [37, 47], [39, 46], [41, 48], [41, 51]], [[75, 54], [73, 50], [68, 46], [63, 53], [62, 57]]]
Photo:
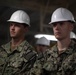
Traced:
[[49, 55], [41, 75], [76, 75], [76, 42], [72, 40], [68, 49], [61, 54], [55, 45], [49, 50]]

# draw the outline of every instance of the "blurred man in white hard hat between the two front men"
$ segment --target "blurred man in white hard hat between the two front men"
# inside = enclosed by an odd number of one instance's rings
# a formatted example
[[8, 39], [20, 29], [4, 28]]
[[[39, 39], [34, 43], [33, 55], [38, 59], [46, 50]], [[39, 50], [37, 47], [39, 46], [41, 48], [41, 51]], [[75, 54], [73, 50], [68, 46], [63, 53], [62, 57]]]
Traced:
[[29, 75], [40, 75], [40, 68], [43, 67], [43, 64], [46, 62], [48, 55], [48, 49], [50, 46], [50, 40], [45, 37], [41, 37], [36, 41], [36, 51], [38, 53], [37, 60], [31, 69], [31, 74]]

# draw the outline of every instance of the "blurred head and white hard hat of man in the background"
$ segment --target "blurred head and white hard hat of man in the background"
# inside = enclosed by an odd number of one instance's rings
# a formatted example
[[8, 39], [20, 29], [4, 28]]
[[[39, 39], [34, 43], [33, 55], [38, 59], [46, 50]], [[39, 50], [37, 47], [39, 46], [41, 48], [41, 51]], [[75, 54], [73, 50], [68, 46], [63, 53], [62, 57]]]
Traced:
[[36, 41], [36, 51], [37, 53], [43, 53], [50, 46], [50, 40], [45, 37], [38, 38]]

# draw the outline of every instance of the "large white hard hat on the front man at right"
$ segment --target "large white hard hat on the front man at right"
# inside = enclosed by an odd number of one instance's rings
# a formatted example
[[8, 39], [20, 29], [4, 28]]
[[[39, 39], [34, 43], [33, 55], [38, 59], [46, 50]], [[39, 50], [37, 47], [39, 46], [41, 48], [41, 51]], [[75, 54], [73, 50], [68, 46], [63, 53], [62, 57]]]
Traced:
[[51, 22], [49, 24], [60, 22], [60, 21], [75, 22], [73, 14], [66, 8], [56, 9], [52, 14]]

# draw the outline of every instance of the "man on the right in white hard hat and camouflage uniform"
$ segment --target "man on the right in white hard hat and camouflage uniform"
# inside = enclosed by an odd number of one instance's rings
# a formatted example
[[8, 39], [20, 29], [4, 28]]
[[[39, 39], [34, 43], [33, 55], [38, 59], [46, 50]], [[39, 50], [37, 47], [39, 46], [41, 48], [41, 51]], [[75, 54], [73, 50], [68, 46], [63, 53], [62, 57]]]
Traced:
[[42, 75], [76, 75], [76, 42], [70, 38], [74, 23], [72, 13], [65, 8], [58, 8], [52, 14], [50, 24], [58, 41], [49, 50]]

